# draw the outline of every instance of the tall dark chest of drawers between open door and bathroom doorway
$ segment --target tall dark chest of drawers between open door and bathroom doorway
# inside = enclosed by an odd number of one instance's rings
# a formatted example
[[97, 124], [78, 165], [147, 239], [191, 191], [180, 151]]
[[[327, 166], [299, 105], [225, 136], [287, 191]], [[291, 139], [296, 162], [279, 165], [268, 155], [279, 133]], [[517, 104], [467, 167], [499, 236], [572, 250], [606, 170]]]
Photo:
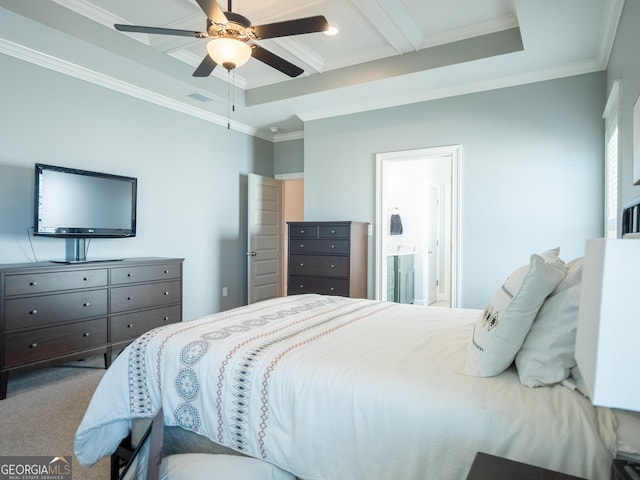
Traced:
[[367, 297], [364, 222], [289, 222], [287, 293]]

